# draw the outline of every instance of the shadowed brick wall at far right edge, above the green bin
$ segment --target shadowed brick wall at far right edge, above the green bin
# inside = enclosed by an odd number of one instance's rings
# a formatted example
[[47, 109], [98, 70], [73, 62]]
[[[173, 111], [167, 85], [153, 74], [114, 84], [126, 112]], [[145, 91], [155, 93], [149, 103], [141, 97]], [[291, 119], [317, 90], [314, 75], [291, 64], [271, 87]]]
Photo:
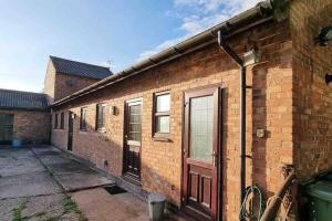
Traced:
[[332, 45], [314, 44], [320, 29], [332, 24], [331, 0], [293, 1], [290, 30], [293, 39], [293, 145], [300, 179], [332, 167]]

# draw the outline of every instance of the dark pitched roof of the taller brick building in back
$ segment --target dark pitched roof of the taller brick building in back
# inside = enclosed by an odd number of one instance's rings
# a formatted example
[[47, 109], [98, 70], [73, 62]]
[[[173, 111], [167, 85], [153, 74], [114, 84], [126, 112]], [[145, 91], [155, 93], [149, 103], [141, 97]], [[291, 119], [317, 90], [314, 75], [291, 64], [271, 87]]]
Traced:
[[73, 74], [95, 80], [103, 80], [113, 74], [110, 69], [105, 66], [75, 62], [56, 56], [50, 56], [50, 59], [54, 64], [55, 71], [63, 74]]

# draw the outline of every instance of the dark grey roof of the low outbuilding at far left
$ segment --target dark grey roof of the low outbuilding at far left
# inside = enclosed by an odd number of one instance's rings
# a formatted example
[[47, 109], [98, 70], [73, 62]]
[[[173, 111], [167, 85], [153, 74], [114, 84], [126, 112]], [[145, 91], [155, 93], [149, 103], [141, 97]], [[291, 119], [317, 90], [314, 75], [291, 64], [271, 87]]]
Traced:
[[0, 88], [0, 109], [45, 109], [48, 106], [45, 94]]

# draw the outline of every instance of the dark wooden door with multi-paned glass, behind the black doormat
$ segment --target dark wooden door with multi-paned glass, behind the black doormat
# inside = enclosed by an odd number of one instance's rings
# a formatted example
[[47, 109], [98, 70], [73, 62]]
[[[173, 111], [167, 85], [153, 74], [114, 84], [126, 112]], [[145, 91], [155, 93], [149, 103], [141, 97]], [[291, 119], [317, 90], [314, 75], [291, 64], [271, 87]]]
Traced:
[[125, 104], [124, 176], [141, 181], [142, 99]]

